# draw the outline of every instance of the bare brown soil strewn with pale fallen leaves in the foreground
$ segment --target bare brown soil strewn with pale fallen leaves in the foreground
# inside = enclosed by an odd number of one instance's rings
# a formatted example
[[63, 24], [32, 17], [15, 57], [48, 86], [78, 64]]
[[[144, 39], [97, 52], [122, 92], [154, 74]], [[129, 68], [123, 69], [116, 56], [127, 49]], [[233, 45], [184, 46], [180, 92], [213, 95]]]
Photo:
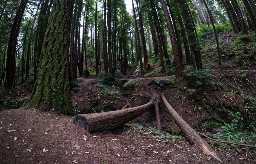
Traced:
[[[89, 134], [75, 125], [73, 118], [38, 109], [1, 111], [0, 163], [218, 163], [213, 157], [209, 159], [202, 154], [196, 146], [187, 144], [184, 139], [172, 144], [158, 142], [158, 139], [146, 135], [145, 131], [141, 133], [138, 129], [126, 126]], [[135, 137], [135, 134], [145, 135], [145, 138]], [[16, 141], [14, 137], [17, 137]], [[43, 149], [48, 151], [43, 152]], [[165, 156], [163, 152], [168, 150], [170, 152]], [[230, 156], [225, 150], [217, 152], [225, 164], [255, 161], [250, 156], [242, 156], [243, 160]]]

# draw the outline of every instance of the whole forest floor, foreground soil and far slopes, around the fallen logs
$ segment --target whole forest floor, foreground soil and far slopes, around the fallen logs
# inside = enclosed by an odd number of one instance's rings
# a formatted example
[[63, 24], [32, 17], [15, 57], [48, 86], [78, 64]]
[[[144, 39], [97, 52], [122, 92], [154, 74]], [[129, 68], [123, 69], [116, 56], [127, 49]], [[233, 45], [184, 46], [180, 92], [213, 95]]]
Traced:
[[[181, 79], [162, 74], [159, 62], [152, 57], [149, 60], [152, 70], [146, 72], [144, 78], [136, 79], [136, 66], [127, 68], [127, 74], [122, 74], [118, 85], [102, 83], [102, 79], [96, 77], [95, 71], [90, 72], [90, 78], [78, 78], [76, 86], [72, 88], [73, 108], [79, 111], [77, 114], [93, 113], [92, 107], [98, 113], [107, 112], [121, 109], [127, 105], [125, 100], [131, 99], [128, 108], [135, 107], [146, 104], [147, 97], [164, 93], [176, 112], [196, 131], [225, 136], [223, 122], [232, 123], [234, 115], [231, 113], [238, 111], [243, 114], [244, 123], [249, 125], [255, 116], [249, 117], [246, 114], [245, 101], [248, 100], [242, 94], [247, 98], [256, 97], [256, 65], [253, 64], [255, 59], [250, 56], [253, 51], [251, 44], [255, 42], [255, 38], [250, 34], [245, 37], [228, 33], [220, 33], [219, 37], [223, 42], [223, 54], [236, 54], [224, 57], [223, 66], [220, 67], [217, 59], [210, 59], [216, 56], [214, 39], [202, 45], [203, 66], [210, 66], [212, 70], [208, 71], [211, 78], [206, 82], [213, 81], [212, 85], [196, 88], [187, 73]], [[244, 47], [249, 54], [244, 53]], [[117, 66], [120, 70], [120, 63]], [[88, 62], [88, 69], [93, 68], [94, 63]], [[190, 71], [190, 68], [184, 69]], [[252, 84], [246, 85], [242, 77], [245, 74], [243, 71], [247, 72], [246, 82], [250, 80]], [[208, 73], [205, 74], [209, 75]], [[14, 88], [13, 100], [10, 99], [11, 90], [2, 89], [0, 92], [1, 164], [219, 163], [213, 156], [203, 154], [197, 146], [190, 145], [185, 138], [181, 138], [185, 136], [163, 102], [159, 105], [161, 134], [154, 128], [154, 109], [118, 129], [89, 134], [73, 123], [74, 116], [62, 115], [56, 111], [19, 108], [27, 104], [32, 89], [33, 80], [30, 78]], [[228, 98], [232, 98], [232, 102], [224, 96], [230, 93], [233, 95]], [[10, 102], [12, 108], [19, 109], [6, 110], [10, 107]], [[254, 134], [245, 125], [240, 129], [236, 133], [243, 131], [247, 136]], [[234, 133], [232, 135], [235, 136]], [[208, 139], [206, 141], [224, 164], [256, 163], [254, 149], [251, 151], [247, 147], [239, 147], [243, 152], [239, 154], [235, 147]]]

